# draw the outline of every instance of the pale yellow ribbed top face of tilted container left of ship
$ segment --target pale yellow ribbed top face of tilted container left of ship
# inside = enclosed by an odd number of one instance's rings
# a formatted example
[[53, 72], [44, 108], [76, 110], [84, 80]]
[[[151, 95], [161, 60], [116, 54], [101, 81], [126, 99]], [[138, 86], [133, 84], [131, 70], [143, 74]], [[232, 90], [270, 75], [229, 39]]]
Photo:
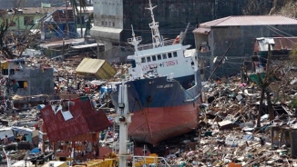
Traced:
[[77, 73], [96, 74], [105, 60], [85, 58], [76, 69]]

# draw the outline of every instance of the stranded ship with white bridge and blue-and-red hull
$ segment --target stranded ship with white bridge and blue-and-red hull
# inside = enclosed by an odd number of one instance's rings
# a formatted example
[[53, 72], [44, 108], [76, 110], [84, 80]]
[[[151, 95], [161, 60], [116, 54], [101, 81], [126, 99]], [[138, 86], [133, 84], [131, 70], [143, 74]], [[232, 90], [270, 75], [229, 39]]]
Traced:
[[[164, 40], [159, 34], [149, 0], [148, 10], [152, 23], [148, 24], [152, 44], [138, 45], [132, 26], [134, 55], [129, 55], [132, 66], [128, 69], [128, 111], [133, 113], [128, 135], [136, 142], [159, 142], [195, 130], [200, 111], [200, 68], [195, 59], [196, 50], [183, 45], [184, 34], [175, 40]], [[118, 89], [111, 93], [118, 108]]]

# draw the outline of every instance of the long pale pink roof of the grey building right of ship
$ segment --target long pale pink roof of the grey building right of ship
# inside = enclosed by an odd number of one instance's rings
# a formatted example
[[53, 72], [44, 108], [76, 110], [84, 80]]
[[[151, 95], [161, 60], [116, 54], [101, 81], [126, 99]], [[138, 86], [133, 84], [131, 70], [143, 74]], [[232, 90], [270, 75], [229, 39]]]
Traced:
[[200, 27], [232, 25], [297, 25], [297, 20], [282, 15], [239, 15], [206, 22]]

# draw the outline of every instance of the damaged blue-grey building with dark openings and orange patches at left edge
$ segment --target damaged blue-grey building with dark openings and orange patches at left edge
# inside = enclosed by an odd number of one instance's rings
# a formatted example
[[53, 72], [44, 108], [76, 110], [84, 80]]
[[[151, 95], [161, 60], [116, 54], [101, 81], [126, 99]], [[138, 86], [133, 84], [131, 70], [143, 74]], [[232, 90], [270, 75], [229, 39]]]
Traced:
[[6, 60], [1, 63], [2, 75], [6, 80], [6, 96], [54, 94], [54, 69], [40, 67], [40, 64], [30, 65], [31, 68], [26, 68], [25, 59]]

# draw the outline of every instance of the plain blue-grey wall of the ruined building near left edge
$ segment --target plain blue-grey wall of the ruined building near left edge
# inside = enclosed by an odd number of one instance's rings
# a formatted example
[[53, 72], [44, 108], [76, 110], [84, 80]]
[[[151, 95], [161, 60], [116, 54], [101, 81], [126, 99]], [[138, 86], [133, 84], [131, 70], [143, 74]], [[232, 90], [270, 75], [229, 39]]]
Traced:
[[26, 81], [28, 83], [26, 89], [17, 89], [17, 95], [54, 94], [54, 69], [46, 69], [44, 72], [41, 69], [15, 71], [15, 74], [11, 75], [11, 78], [16, 81]]

